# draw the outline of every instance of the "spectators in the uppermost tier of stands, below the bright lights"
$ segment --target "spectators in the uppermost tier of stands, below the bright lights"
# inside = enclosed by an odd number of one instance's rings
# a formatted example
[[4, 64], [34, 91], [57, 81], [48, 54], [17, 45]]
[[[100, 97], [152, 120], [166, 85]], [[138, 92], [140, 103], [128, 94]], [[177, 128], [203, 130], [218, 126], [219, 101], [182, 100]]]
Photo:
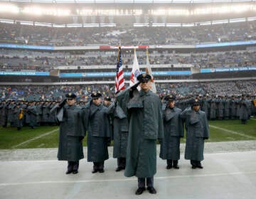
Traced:
[[193, 27], [50, 28], [0, 23], [0, 42], [28, 45], [172, 45], [255, 39], [256, 21]]

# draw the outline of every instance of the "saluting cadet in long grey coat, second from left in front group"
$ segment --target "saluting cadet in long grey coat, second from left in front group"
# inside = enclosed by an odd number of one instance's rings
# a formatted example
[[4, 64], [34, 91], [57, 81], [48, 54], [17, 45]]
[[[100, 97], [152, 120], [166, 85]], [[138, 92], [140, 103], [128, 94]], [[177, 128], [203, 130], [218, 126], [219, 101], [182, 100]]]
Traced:
[[85, 105], [87, 127], [87, 161], [93, 162], [92, 173], [103, 173], [104, 161], [109, 158], [107, 142], [110, 139], [110, 122], [107, 108], [102, 104], [102, 95], [92, 92], [92, 99]]

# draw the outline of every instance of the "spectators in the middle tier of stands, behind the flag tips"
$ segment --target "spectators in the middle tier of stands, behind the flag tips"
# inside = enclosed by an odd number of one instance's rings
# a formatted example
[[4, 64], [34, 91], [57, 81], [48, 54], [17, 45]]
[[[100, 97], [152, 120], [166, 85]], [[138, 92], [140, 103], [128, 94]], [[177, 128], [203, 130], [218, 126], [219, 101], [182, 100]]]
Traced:
[[[116, 65], [117, 52], [86, 51], [84, 54], [72, 52], [36, 52], [28, 50], [0, 50], [0, 70], [50, 71], [58, 66]], [[122, 64], [132, 65], [132, 50], [122, 53]], [[137, 51], [139, 65], [146, 65], [146, 53]], [[211, 53], [171, 53], [153, 51], [149, 54], [151, 65], [193, 65], [196, 68], [234, 68], [252, 66], [256, 63], [255, 50], [237, 50]], [[99, 71], [99, 70], [97, 70]], [[96, 72], [97, 72], [96, 71]]]

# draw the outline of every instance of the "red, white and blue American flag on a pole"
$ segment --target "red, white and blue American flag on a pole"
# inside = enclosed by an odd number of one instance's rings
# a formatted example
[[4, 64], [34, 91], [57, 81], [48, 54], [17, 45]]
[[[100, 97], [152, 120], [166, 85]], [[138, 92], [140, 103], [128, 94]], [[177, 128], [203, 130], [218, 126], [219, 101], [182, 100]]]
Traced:
[[117, 93], [120, 90], [124, 90], [124, 88], [124, 72], [122, 70], [121, 47], [119, 47], [117, 56], [117, 75], [115, 77], [114, 91]]

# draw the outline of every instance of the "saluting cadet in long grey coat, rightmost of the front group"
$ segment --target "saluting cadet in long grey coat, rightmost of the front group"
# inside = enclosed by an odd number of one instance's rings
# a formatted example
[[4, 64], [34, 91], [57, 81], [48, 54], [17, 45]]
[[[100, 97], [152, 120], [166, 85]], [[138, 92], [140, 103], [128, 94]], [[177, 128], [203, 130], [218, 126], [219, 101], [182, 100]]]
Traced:
[[192, 168], [203, 168], [204, 140], [209, 137], [209, 127], [206, 113], [200, 110], [197, 99], [193, 99], [191, 107], [181, 112], [181, 118], [186, 122], [185, 159], [191, 160]]

